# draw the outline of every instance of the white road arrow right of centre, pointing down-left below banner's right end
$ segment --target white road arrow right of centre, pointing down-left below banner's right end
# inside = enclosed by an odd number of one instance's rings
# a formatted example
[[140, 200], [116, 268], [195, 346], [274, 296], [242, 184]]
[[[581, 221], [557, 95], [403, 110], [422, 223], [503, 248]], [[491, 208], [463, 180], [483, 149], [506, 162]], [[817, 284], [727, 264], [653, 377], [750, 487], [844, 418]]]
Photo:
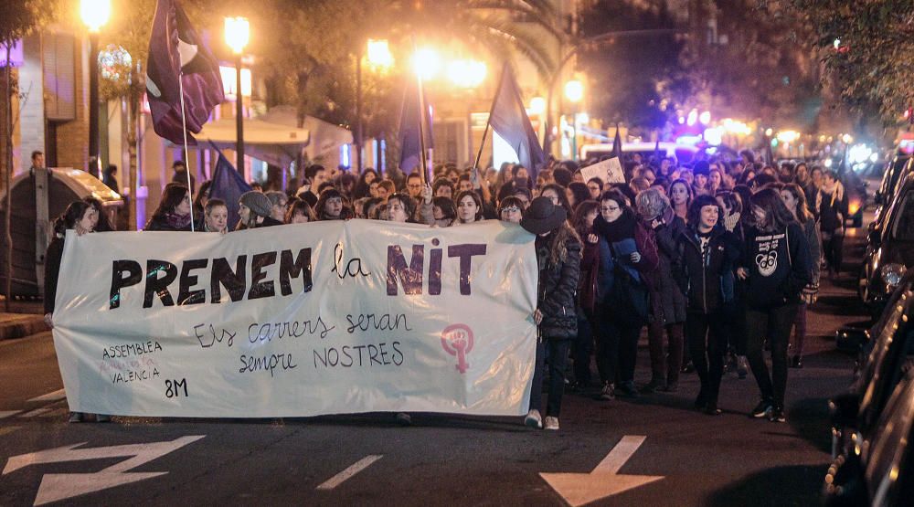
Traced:
[[619, 470], [647, 437], [626, 435], [590, 473], [540, 473], [559, 496], [574, 507], [660, 481], [662, 475], [620, 475]]

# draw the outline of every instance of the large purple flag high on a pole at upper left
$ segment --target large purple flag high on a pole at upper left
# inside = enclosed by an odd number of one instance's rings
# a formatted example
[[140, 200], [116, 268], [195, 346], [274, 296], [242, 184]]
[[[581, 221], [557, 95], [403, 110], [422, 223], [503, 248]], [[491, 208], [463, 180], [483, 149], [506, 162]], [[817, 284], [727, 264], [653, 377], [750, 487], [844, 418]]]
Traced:
[[[146, 96], [155, 133], [175, 144], [184, 144], [182, 84], [187, 131], [200, 132], [209, 111], [225, 100], [219, 64], [177, 1], [158, 0], [149, 37]], [[187, 143], [197, 141], [188, 134]]]

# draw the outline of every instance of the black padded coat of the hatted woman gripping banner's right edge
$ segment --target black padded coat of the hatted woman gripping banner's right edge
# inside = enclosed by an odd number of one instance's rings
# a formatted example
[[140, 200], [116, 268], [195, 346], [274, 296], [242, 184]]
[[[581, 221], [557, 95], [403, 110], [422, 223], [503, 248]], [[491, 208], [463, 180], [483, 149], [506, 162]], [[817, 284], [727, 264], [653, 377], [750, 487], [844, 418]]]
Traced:
[[537, 237], [537, 262], [539, 264], [539, 289], [537, 309], [543, 314], [539, 330], [543, 338], [568, 340], [578, 335], [578, 317], [575, 313], [576, 292], [580, 275], [580, 243], [573, 236], [565, 239], [568, 254], [564, 260], [553, 264], [549, 250], [559, 231], [546, 238]]

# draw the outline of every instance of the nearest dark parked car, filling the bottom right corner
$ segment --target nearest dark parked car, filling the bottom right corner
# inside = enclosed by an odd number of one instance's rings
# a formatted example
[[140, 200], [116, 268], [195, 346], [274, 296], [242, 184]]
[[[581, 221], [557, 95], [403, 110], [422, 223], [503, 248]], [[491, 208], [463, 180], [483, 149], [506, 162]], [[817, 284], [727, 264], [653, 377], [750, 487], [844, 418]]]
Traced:
[[834, 461], [825, 476], [826, 505], [897, 505], [914, 498], [914, 452], [907, 449], [914, 417], [912, 285], [909, 274], [871, 328], [851, 388], [829, 402]]

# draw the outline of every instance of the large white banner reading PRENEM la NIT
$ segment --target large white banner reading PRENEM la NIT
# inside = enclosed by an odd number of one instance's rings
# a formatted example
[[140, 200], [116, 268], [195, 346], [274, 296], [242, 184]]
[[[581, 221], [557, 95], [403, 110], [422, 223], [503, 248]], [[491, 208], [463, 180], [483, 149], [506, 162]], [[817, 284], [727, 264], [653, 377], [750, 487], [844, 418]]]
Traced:
[[499, 221], [70, 232], [54, 312], [70, 410], [526, 414], [533, 238]]

